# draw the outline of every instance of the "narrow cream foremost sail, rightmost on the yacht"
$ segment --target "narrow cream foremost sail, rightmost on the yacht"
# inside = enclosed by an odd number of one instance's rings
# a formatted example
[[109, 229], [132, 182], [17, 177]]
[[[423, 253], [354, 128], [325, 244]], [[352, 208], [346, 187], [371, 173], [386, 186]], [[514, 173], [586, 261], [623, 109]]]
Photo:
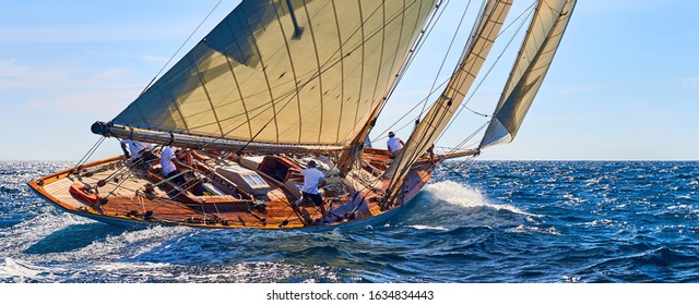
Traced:
[[574, 5], [576, 0], [540, 1], [481, 148], [514, 139], [546, 76]]

